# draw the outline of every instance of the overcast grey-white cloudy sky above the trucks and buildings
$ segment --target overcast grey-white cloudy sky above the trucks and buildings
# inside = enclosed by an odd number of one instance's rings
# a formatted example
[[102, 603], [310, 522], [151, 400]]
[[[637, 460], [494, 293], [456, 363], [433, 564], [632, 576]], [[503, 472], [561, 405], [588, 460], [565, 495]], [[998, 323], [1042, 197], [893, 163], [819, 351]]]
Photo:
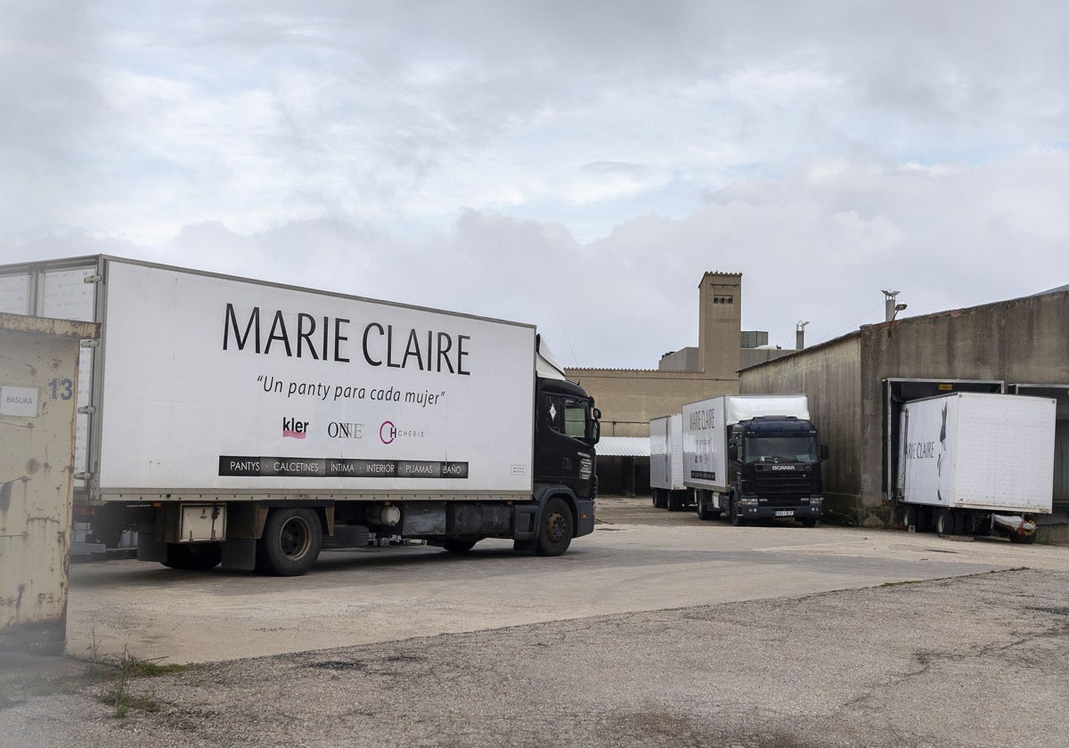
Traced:
[[0, 263], [792, 347], [1069, 283], [1069, 4], [0, 0]]

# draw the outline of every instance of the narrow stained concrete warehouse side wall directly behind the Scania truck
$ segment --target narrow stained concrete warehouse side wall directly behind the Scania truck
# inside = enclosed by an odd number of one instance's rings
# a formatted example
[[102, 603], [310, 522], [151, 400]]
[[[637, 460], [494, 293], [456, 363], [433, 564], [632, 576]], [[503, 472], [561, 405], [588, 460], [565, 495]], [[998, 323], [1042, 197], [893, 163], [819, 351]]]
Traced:
[[809, 416], [827, 445], [823, 467], [824, 511], [854, 520], [861, 502], [861, 337], [848, 336], [793, 356], [744, 369], [739, 391], [746, 394], [804, 392]]

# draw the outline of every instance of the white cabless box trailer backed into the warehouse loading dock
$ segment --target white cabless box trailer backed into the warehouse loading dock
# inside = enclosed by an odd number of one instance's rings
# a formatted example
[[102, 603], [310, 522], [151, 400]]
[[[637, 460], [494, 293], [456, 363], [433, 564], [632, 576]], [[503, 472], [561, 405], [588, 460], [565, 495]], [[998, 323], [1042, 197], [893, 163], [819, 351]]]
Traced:
[[1056, 402], [956, 392], [902, 406], [899, 521], [944, 535], [1036, 539], [1050, 514]]

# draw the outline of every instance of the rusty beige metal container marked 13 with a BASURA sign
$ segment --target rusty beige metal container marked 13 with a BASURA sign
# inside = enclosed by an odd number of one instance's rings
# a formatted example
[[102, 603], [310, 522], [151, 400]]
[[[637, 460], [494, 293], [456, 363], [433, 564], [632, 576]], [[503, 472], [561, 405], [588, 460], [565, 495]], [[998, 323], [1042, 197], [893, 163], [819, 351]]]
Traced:
[[59, 653], [82, 338], [91, 323], [0, 314], [0, 646]]

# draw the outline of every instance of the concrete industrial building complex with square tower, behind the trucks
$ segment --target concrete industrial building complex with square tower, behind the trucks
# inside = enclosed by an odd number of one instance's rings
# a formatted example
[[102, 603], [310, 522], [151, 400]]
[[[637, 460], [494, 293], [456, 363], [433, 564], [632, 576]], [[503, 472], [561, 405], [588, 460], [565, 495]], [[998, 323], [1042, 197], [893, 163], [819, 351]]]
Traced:
[[[952, 391], [1018, 392], [1057, 400], [1054, 513], [1069, 541], [1069, 286], [1035, 296], [866, 325], [806, 348], [770, 349], [742, 330], [742, 276], [707, 272], [699, 340], [656, 370], [569, 369], [602, 409], [598, 474], [603, 493], [649, 492], [649, 421], [717, 394], [808, 395], [825, 464], [825, 517], [889, 527], [903, 402]], [[898, 305], [899, 310], [903, 307]]]

